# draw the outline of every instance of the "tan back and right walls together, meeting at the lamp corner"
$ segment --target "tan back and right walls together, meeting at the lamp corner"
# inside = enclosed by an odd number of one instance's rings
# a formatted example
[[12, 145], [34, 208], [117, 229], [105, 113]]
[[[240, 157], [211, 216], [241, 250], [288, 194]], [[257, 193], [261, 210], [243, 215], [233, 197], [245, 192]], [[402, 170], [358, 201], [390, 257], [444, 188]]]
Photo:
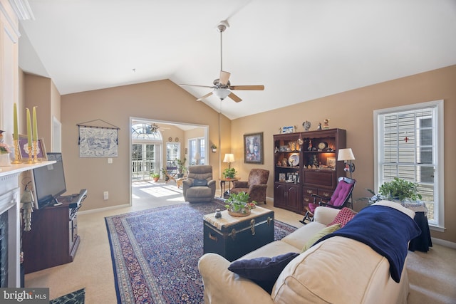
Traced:
[[[274, 167], [272, 135], [285, 125], [296, 125], [302, 131], [302, 122], [310, 120], [311, 130], [318, 122], [330, 119], [330, 127], [347, 130], [347, 147], [351, 147], [356, 157], [358, 180], [355, 199], [368, 195], [366, 188], [373, 188], [373, 110], [391, 108], [399, 105], [423, 103], [431, 100], [445, 100], [445, 232], [432, 231], [437, 239], [456, 242], [456, 196], [455, 177], [456, 159], [452, 157], [456, 149], [454, 132], [456, 122], [456, 65], [432, 70], [398, 80], [371, 85], [311, 100], [299, 105], [263, 112], [258, 115], [242, 117], [230, 122], [226, 117], [198, 103], [195, 98], [169, 80], [127, 85], [105, 90], [63, 95], [61, 97], [62, 150], [69, 192], [87, 188], [89, 199], [83, 209], [96, 209], [130, 201], [129, 174], [129, 117], [143, 117], [152, 120], [187, 122], [209, 125], [210, 145], [217, 145], [217, 153], [209, 152], [209, 164], [214, 167], [214, 177], [219, 170], [227, 167], [220, 163], [225, 153], [233, 152], [236, 161], [232, 167], [239, 177], [247, 178], [253, 167], [262, 167], [271, 172]], [[248, 102], [244, 100], [243, 102]], [[193, 113], [189, 115], [189, 113]], [[102, 119], [120, 127], [119, 155], [113, 164], [105, 158], [78, 157], [78, 122]], [[221, 130], [220, 145], [219, 119]], [[264, 122], [269, 122], [264, 124]], [[39, 131], [38, 131], [39, 132]], [[264, 132], [264, 164], [244, 164], [243, 135]], [[165, 137], [166, 138], [166, 137]], [[229, 145], [231, 142], [231, 146]], [[46, 144], [47, 145], [47, 144]], [[185, 149], [185, 145], [182, 145]], [[184, 150], [183, 149], [183, 150]], [[269, 179], [268, 196], [273, 197], [272, 178]], [[110, 199], [103, 201], [103, 191], [110, 192]], [[363, 207], [357, 202], [356, 209]]]

